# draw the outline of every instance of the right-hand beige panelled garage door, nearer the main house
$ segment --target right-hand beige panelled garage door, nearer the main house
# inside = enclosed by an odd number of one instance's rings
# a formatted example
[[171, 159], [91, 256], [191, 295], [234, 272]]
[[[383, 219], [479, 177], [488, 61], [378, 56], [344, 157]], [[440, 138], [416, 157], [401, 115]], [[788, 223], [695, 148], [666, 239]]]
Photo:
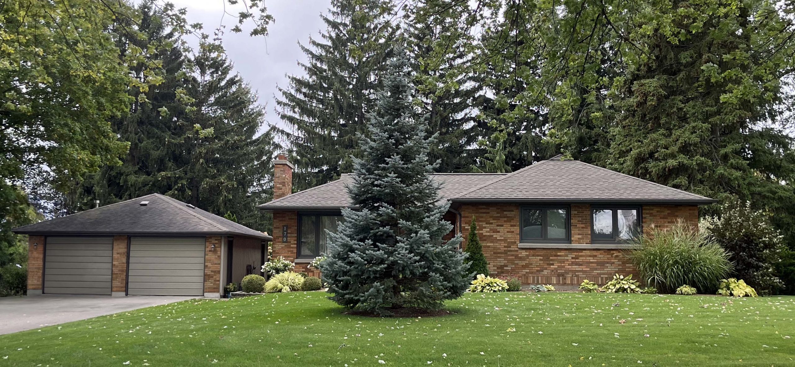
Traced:
[[130, 296], [204, 296], [204, 238], [130, 238]]

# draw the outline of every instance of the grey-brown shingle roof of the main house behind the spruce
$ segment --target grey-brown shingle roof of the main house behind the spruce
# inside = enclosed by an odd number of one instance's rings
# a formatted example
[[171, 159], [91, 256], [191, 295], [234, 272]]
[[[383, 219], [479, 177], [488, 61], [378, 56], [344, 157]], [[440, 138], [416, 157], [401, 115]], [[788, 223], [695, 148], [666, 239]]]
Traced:
[[[436, 173], [440, 196], [453, 203], [659, 203], [704, 205], [714, 199], [554, 156], [513, 173]], [[353, 178], [299, 191], [259, 205], [266, 211], [335, 210], [350, 207], [345, 185]]]

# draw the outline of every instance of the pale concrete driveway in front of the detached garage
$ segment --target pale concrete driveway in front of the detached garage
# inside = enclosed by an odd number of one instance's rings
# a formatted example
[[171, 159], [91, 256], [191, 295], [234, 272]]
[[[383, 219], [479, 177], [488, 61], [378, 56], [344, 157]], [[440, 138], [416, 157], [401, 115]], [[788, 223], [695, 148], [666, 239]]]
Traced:
[[41, 295], [0, 297], [0, 334], [91, 319], [198, 297]]

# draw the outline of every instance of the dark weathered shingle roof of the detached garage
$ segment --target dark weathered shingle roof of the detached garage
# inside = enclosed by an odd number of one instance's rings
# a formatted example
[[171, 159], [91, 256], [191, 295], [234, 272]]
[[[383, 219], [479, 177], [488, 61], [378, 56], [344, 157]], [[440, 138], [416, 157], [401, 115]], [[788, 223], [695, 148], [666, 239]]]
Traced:
[[[141, 203], [149, 202], [145, 206]], [[197, 207], [152, 194], [14, 229], [17, 234], [226, 234], [273, 238]]]

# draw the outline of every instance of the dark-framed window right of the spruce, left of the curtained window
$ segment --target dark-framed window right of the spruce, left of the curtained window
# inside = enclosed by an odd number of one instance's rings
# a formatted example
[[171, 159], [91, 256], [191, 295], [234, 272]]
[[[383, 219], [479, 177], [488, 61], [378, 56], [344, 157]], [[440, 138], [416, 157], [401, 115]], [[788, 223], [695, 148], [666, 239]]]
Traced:
[[522, 207], [522, 242], [568, 243], [568, 207]]

